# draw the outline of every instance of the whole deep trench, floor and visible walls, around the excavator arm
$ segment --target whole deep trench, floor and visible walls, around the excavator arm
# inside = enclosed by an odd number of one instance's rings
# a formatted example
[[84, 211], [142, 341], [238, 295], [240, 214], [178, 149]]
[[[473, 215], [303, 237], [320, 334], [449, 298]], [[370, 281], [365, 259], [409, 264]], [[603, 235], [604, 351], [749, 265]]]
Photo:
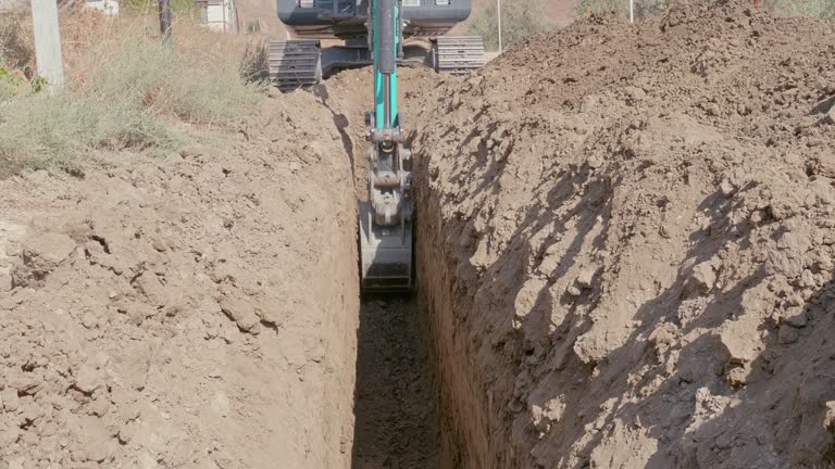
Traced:
[[[425, 83], [407, 79], [403, 113], [411, 117], [409, 90]], [[367, 83], [367, 69], [348, 71], [314, 87], [313, 93], [329, 111], [342, 148], [353, 169], [354, 195], [367, 197], [364, 111], [367, 97], [352, 87]], [[407, 142], [409, 147], [411, 142]], [[359, 156], [363, 155], [363, 156]], [[416, 160], [415, 256], [416, 292], [411, 295], [363, 296], [357, 330], [356, 386], [353, 395], [352, 469], [433, 469], [468, 467], [461, 456], [465, 446], [457, 435], [458, 411], [447, 409], [439, 377], [446, 375], [445, 352], [437, 348], [439, 334], [434, 314], [437, 288], [446, 271], [434, 255], [438, 206], [420, 197], [427, 189]], [[421, 227], [427, 224], [426, 227]], [[441, 295], [448, 297], [447, 295]], [[445, 376], [445, 379], [450, 377]], [[452, 409], [454, 410], [454, 409]]]

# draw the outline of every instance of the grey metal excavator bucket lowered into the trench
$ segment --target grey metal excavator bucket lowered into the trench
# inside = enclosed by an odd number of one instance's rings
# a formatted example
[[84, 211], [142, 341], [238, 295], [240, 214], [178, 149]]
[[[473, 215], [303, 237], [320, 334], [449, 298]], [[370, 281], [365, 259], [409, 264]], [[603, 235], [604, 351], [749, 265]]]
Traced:
[[412, 278], [412, 223], [379, 226], [371, 206], [360, 202], [360, 250], [362, 290], [367, 293], [402, 293], [414, 286]]

